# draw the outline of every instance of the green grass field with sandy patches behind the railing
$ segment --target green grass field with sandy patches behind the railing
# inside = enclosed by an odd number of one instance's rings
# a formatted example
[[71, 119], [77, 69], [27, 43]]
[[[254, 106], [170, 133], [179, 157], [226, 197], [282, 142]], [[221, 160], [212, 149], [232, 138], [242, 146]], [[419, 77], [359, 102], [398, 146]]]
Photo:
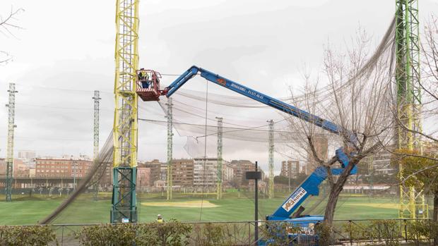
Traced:
[[[180, 197], [166, 201], [161, 194], [138, 197], [138, 221], [153, 221], [157, 214], [165, 219], [180, 221], [250, 221], [254, 218], [254, 201], [248, 194], [227, 194], [222, 200], [211, 197], [201, 199], [200, 196]], [[109, 221], [111, 201], [108, 194], [100, 195], [101, 199], [93, 201], [90, 196], [83, 195], [69, 206], [54, 223], [106, 223]], [[264, 219], [283, 202], [285, 194], [277, 194], [278, 198], [259, 200], [259, 218]], [[240, 198], [239, 198], [240, 197]], [[53, 211], [65, 197], [17, 197], [13, 202], [0, 202], [1, 224], [19, 225], [34, 224]], [[305, 207], [312, 207], [311, 199]], [[4, 201], [4, 199], [1, 199]], [[336, 209], [336, 219], [396, 219], [396, 199], [369, 198], [365, 196], [342, 196]], [[201, 207], [201, 204], [203, 205]], [[324, 202], [310, 214], [324, 214]]]

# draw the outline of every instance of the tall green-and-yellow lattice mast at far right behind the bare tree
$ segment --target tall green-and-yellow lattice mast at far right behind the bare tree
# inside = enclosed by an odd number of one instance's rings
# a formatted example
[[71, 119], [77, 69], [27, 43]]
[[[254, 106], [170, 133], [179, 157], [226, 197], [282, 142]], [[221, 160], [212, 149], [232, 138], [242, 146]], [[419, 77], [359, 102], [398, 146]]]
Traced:
[[[396, 83], [398, 118], [406, 128], [421, 132], [418, 0], [396, 0]], [[421, 145], [420, 135], [398, 128], [399, 149], [418, 149], [421, 152]], [[399, 171], [402, 169], [403, 166], [399, 166]], [[418, 207], [423, 213], [417, 213]], [[398, 216], [401, 219], [427, 218], [427, 209], [424, 208], [422, 192], [415, 195], [414, 187], [400, 186]]]

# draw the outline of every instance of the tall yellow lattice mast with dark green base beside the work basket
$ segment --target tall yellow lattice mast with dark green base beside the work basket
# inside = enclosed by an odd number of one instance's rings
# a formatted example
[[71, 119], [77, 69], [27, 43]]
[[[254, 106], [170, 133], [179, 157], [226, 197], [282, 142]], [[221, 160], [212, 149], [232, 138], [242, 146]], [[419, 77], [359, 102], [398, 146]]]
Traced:
[[138, 0], [116, 3], [111, 222], [136, 222]]

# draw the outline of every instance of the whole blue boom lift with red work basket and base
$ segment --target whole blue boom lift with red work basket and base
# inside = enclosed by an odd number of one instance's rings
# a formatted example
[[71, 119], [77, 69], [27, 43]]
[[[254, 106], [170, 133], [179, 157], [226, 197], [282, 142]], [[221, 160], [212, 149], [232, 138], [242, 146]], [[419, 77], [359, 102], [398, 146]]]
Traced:
[[[150, 70], [148, 70], [150, 71]], [[138, 73], [142, 73], [141, 70], [138, 70]], [[144, 72], [143, 72], [144, 73]], [[154, 80], [153, 78], [158, 78], [160, 76], [155, 75], [156, 72], [152, 71], [153, 76], [148, 77], [148, 82], [153, 85], [155, 88], [159, 88], [160, 81], [158, 79]], [[268, 106], [273, 107], [274, 109], [278, 109], [284, 113], [288, 113], [292, 116], [300, 118], [309, 123], [313, 123], [314, 125], [323, 128], [324, 130], [328, 130], [330, 133], [340, 134], [345, 133], [345, 130], [341, 128], [341, 126], [332, 123], [331, 121], [326, 121], [323, 118], [313, 115], [312, 113], [308, 113], [307, 111], [303, 111], [301, 109], [297, 109], [295, 106], [290, 104], [286, 104], [285, 102], [281, 102], [278, 99], [274, 99], [269, 97], [266, 94], [256, 92], [255, 90], [251, 90], [244, 85], [240, 85], [237, 82], [229, 80], [227, 78], [223, 78], [220, 75], [215, 73], [211, 73], [208, 70], [203, 68], [199, 68], [196, 66], [192, 66], [180, 75], [172, 84], [165, 88], [165, 90], [143, 90], [141, 88], [142, 84], [145, 84], [145, 81], [138, 80], [138, 90], [137, 93], [143, 101], [157, 101], [161, 95], [165, 95], [166, 97], [172, 96], [174, 92], [176, 92], [182, 85], [184, 85], [191, 78], [194, 78], [195, 75], [201, 75], [201, 77], [205, 78], [208, 81], [214, 82], [217, 85], [225, 87], [229, 90], [237, 92], [239, 94], [244, 95], [245, 97], [249, 97], [254, 99], [262, 104], [266, 104]], [[141, 78], [139, 76], [138, 78]], [[347, 133], [352, 142], [356, 141], [356, 137], [352, 133]], [[341, 168], [331, 168], [331, 173], [333, 175], [340, 175], [344, 168], [349, 165], [350, 159], [347, 154], [343, 151], [343, 148], [336, 149], [336, 159], [341, 164]], [[353, 167], [350, 171], [350, 174], [355, 174], [357, 172], [357, 167]], [[319, 166], [316, 170], [310, 174], [304, 182], [297, 187], [297, 189], [292, 192], [292, 194], [288, 197], [288, 199], [281, 204], [280, 207], [273, 214], [266, 216], [266, 221], [284, 221], [287, 223], [291, 223], [294, 226], [300, 226], [303, 231], [307, 233], [312, 233], [312, 225], [319, 223], [324, 220], [324, 216], [321, 215], [302, 215], [302, 211], [304, 211], [304, 207], [301, 204], [310, 196], [319, 195], [319, 185], [326, 180], [328, 176], [328, 170], [326, 167]], [[295, 214], [292, 214], [294, 211]], [[292, 236], [292, 235], [291, 235]], [[269, 245], [270, 240], [260, 240], [259, 245]]]

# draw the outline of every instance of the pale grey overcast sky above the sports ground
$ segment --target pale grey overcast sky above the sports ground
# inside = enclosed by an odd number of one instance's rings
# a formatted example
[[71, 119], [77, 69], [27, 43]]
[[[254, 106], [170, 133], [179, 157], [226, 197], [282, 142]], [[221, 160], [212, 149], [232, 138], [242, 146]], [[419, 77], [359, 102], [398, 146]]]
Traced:
[[[8, 82], [16, 82], [18, 90], [15, 152], [91, 155], [93, 90], [101, 91], [100, 142], [105, 141], [114, 105], [114, 2], [0, 1], [1, 16], [11, 8], [25, 10], [16, 20], [23, 29], [0, 34], [0, 50], [13, 56], [0, 66], [0, 103], [7, 103]], [[437, 11], [437, 1], [420, 1], [421, 20]], [[289, 85], [300, 85], [303, 64], [319, 70], [328, 42], [341, 49], [361, 26], [377, 44], [393, 18], [394, 1], [143, 0], [139, 13], [141, 67], [178, 74], [196, 64], [273, 97], [285, 97]], [[172, 77], [162, 82], [169, 84]], [[185, 88], [202, 92], [205, 82], [196, 78]], [[209, 90], [229, 94], [214, 85]], [[164, 119], [158, 104], [142, 106], [146, 110], [140, 117]], [[266, 122], [263, 113], [226, 113], [254, 125]], [[6, 107], [1, 106], [0, 156], [6, 155], [6, 118]], [[140, 123], [138, 142], [139, 159], [165, 161], [164, 127]], [[185, 142], [185, 137], [174, 137], [174, 158], [189, 157]], [[224, 146], [225, 159], [264, 164], [267, 157], [267, 148], [263, 152], [242, 144]], [[276, 155], [277, 170], [281, 159]]]

